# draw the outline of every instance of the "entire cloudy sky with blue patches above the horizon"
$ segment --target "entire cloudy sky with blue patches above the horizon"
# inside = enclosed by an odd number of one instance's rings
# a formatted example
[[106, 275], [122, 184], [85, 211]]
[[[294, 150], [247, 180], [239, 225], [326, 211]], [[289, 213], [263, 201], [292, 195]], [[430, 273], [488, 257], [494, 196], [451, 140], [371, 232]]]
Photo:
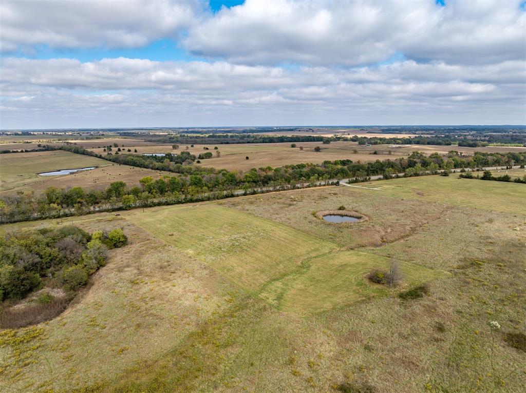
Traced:
[[0, 2], [0, 128], [526, 124], [523, 0]]

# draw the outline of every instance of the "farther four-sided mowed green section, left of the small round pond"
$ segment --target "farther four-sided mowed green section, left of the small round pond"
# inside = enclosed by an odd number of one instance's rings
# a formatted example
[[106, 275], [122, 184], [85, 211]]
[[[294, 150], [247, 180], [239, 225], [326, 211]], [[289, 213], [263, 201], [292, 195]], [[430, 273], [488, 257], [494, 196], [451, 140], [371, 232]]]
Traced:
[[214, 204], [148, 210], [128, 219], [250, 291], [293, 272], [306, 258], [337, 248], [286, 225]]

